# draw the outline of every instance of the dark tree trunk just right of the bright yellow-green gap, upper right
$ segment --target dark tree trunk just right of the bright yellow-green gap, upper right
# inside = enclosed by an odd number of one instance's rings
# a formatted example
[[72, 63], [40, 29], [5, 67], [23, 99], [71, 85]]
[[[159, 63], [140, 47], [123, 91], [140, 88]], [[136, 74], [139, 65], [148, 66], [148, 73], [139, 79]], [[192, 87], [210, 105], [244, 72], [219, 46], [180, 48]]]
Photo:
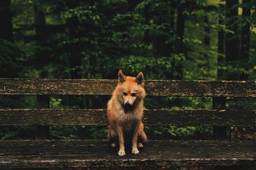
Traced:
[[[251, 0], [243, 0], [243, 4], [250, 3]], [[243, 6], [243, 17], [248, 18], [251, 15], [251, 9], [248, 6]], [[246, 71], [248, 71], [248, 62], [250, 56], [250, 22], [246, 22], [246, 25], [242, 27], [241, 35], [241, 63], [244, 63]], [[241, 74], [240, 80], [248, 80], [248, 74]]]

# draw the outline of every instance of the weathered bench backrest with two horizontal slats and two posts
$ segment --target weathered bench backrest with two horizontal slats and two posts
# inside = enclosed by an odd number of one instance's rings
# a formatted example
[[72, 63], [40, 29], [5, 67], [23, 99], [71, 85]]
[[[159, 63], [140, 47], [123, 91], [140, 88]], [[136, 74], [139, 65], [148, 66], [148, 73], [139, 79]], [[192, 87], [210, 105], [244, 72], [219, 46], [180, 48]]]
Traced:
[[[48, 96], [110, 96], [116, 83], [116, 80], [1, 78], [0, 95], [36, 95], [38, 109], [1, 109], [0, 125], [38, 125], [38, 138], [47, 138], [47, 125], [106, 125], [106, 110], [50, 110]], [[213, 110], [145, 110], [146, 125], [256, 126], [255, 110], [225, 110], [226, 97], [256, 97], [256, 81], [148, 80], [145, 90], [147, 96], [213, 97]], [[224, 130], [219, 128], [216, 132]]]

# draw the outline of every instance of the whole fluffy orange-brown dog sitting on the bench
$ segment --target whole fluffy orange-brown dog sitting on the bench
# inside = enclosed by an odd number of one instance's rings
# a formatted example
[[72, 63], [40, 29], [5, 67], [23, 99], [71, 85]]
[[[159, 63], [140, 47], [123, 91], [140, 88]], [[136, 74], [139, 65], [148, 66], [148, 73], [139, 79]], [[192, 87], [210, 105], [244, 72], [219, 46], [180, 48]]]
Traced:
[[[136, 78], [125, 76], [122, 71], [118, 72], [118, 85], [108, 102], [107, 115], [109, 122], [108, 139], [112, 140], [118, 136], [118, 155], [125, 155], [124, 136], [132, 134], [132, 153], [138, 154], [138, 147], [143, 147], [138, 143], [138, 138], [142, 142], [147, 141], [147, 136], [143, 130], [143, 99], [145, 90], [143, 89], [144, 78], [140, 72]], [[116, 146], [116, 141], [111, 143]], [[137, 147], [138, 146], [138, 147]]]

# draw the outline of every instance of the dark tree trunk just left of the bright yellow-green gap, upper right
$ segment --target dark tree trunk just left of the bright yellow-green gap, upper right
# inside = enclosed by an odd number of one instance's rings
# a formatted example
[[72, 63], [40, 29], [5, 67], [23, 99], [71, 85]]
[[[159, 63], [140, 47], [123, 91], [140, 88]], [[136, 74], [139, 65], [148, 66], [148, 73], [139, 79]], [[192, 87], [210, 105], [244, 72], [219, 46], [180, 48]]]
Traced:
[[[226, 62], [234, 62], [238, 59], [239, 43], [237, 31], [238, 0], [226, 1], [226, 28], [232, 32], [226, 34]], [[227, 80], [237, 80], [237, 74], [230, 73]]]

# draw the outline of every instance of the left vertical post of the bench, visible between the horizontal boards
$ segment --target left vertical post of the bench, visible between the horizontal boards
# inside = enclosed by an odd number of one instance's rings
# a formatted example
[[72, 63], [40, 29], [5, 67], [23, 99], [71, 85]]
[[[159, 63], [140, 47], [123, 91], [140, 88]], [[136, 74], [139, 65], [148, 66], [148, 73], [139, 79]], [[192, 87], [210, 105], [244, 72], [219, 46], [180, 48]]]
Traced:
[[[50, 108], [50, 97], [46, 95], [36, 96], [37, 108], [38, 109], [49, 109]], [[37, 125], [36, 126], [36, 139], [49, 139], [49, 126]]]

